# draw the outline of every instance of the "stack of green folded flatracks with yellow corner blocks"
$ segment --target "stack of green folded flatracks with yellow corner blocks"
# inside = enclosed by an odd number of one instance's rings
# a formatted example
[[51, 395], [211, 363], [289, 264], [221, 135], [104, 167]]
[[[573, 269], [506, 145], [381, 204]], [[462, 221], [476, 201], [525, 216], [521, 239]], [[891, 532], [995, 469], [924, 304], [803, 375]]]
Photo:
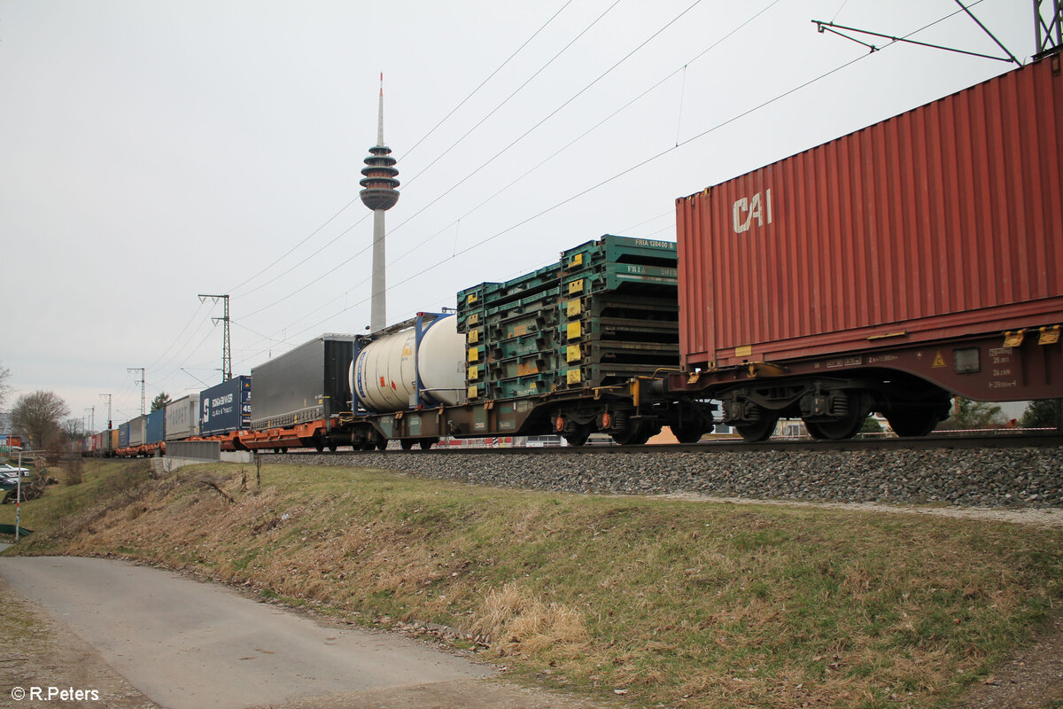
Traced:
[[458, 293], [470, 401], [597, 387], [679, 365], [675, 243], [606, 235]]

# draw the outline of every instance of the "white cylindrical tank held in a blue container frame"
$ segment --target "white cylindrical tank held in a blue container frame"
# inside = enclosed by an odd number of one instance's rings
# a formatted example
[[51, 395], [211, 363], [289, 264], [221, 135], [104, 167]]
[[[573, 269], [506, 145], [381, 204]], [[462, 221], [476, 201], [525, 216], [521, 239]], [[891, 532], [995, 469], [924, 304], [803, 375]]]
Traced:
[[[351, 362], [351, 391], [373, 411], [399, 411], [416, 402], [414, 370], [415, 328], [370, 342]], [[457, 318], [437, 318], [421, 336], [416, 361], [421, 375], [421, 400], [428, 405], [457, 404], [465, 390], [465, 337]]]

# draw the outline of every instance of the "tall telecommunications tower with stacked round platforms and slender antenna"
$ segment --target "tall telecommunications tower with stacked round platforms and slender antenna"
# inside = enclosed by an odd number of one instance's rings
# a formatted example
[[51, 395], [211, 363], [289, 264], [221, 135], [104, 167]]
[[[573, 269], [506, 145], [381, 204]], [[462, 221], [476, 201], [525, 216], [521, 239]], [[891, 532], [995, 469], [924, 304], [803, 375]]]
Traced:
[[399, 201], [399, 181], [395, 175], [395, 158], [391, 157], [391, 149], [384, 145], [384, 74], [381, 74], [381, 106], [376, 124], [376, 145], [369, 149], [366, 167], [361, 174], [366, 175], [358, 182], [362, 186], [361, 203], [373, 210], [373, 285], [370, 301], [369, 331], [375, 333], [388, 324], [387, 314], [387, 278], [384, 252], [384, 213]]

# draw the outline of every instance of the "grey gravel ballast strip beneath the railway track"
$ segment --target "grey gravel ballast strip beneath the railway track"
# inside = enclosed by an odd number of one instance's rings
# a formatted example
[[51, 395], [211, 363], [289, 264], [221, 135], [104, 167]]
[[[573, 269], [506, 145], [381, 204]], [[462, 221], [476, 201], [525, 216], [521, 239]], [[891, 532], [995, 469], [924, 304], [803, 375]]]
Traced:
[[1063, 507], [1063, 448], [607, 455], [277, 455], [477, 485], [607, 494], [695, 493], [807, 502]]

